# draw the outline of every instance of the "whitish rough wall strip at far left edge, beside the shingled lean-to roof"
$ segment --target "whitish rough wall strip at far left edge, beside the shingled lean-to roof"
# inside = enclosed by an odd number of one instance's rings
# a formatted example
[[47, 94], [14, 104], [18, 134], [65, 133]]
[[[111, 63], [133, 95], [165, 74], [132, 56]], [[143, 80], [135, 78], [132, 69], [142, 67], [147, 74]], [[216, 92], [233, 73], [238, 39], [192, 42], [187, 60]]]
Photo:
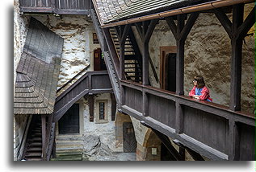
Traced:
[[[16, 80], [16, 68], [19, 63], [23, 46], [26, 40], [27, 27], [29, 17], [20, 15], [19, 13], [19, 0], [14, 1], [14, 89]], [[21, 158], [23, 152], [22, 138], [28, 116], [15, 116], [14, 117], [14, 161]]]

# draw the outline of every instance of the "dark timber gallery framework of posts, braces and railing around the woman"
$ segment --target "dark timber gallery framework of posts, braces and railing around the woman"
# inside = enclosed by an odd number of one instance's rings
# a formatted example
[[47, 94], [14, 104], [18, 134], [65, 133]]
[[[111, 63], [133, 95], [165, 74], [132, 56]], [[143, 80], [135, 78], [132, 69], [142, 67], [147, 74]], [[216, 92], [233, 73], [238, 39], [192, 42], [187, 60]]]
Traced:
[[[187, 151], [196, 160], [203, 160], [204, 155], [212, 160], [246, 160], [254, 159], [254, 153], [245, 151], [241, 145], [250, 146], [254, 152], [254, 124], [255, 117], [252, 113], [241, 112], [241, 47], [242, 39], [255, 23], [254, 9], [243, 21], [244, 4], [233, 5], [233, 23], [229, 21], [224, 10], [215, 8], [209, 12], [214, 12], [220, 23], [228, 32], [232, 43], [232, 69], [231, 69], [231, 102], [229, 108], [220, 104], [205, 101], [196, 101], [184, 95], [184, 44], [187, 35], [194, 26], [201, 11], [190, 12], [188, 14], [178, 14], [164, 18], [176, 39], [177, 59], [176, 59], [176, 92], [168, 92], [159, 88], [149, 86], [149, 39], [158, 18], [147, 18], [145, 21], [132, 20], [119, 22], [123, 31], [128, 32], [130, 25], [134, 25], [141, 37], [142, 47], [142, 70], [143, 82], [137, 84], [120, 77], [121, 102], [120, 110], [139, 121], [145, 121], [151, 129], [165, 134], [171, 139], [176, 139], [182, 147], [187, 147]], [[207, 10], [204, 10], [207, 12]], [[141, 17], [143, 18], [143, 17]], [[161, 18], [163, 19], [163, 18]], [[177, 24], [174, 20], [177, 19]], [[187, 21], [185, 23], [185, 21]], [[107, 33], [108, 27], [118, 27], [117, 23], [103, 25], [103, 31]], [[123, 33], [125, 33], [123, 32]], [[124, 40], [124, 36], [122, 39]], [[122, 40], [121, 39], [121, 40]], [[111, 43], [107, 43], [109, 45]], [[111, 51], [111, 47], [108, 47]], [[122, 54], [120, 54], [122, 56]], [[120, 63], [122, 63], [120, 61]], [[120, 64], [119, 73], [124, 73], [124, 66]], [[239, 92], [239, 93], [237, 93]], [[142, 102], [142, 106], [140, 105]], [[155, 104], [161, 106], [157, 108]], [[198, 125], [200, 121], [206, 125]], [[194, 121], [194, 124], [188, 123]], [[214, 122], [218, 121], [218, 122]], [[212, 125], [209, 125], [212, 124]], [[191, 125], [191, 126], [188, 126]], [[212, 129], [208, 129], [212, 127]], [[212, 138], [207, 137], [208, 133], [215, 132]], [[248, 132], [250, 130], [250, 132]], [[245, 133], [246, 131], [246, 133]], [[197, 133], [199, 132], [199, 133]], [[199, 137], [199, 134], [203, 134]], [[159, 134], [158, 134], [159, 135]], [[243, 140], [250, 137], [250, 141]], [[216, 145], [215, 141], [222, 141]], [[241, 155], [243, 153], [243, 155]], [[176, 156], [177, 157], [177, 156]]]

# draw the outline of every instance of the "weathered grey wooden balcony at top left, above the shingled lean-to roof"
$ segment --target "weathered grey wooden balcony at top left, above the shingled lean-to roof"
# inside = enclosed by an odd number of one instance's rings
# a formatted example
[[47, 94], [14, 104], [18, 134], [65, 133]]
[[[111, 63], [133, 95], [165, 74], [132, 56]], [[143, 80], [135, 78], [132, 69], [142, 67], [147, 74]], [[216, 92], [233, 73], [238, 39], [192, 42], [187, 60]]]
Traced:
[[19, 0], [22, 13], [89, 14], [90, 0]]

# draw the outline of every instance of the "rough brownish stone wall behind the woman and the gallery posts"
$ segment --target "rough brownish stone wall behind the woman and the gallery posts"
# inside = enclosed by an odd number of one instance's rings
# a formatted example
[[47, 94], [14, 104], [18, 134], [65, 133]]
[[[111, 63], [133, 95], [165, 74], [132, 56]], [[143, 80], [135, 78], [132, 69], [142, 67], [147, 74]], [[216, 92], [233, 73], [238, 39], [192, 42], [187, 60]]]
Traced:
[[[245, 17], [250, 13], [254, 4], [245, 6]], [[232, 21], [232, 14], [228, 14]], [[142, 46], [141, 40], [135, 31], [136, 40]], [[252, 27], [249, 33], [254, 33]], [[160, 47], [176, 46], [174, 35], [170, 32], [166, 21], [160, 21], [149, 41], [149, 55], [153, 59], [154, 68], [160, 78]], [[254, 35], [247, 36], [243, 43], [242, 78], [241, 78], [241, 109], [254, 112]], [[231, 43], [225, 29], [214, 14], [199, 14], [185, 43], [184, 60], [184, 92], [188, 95], [193, 87], [195, 75], [204, 76], [210, 90], [213, 102], [229, 106], [230, 98], [230, 63]], [[149, 65], [150, 66], [150, 65]], [[153, 87], [160, 88], [149, 67], [149, 80]]]

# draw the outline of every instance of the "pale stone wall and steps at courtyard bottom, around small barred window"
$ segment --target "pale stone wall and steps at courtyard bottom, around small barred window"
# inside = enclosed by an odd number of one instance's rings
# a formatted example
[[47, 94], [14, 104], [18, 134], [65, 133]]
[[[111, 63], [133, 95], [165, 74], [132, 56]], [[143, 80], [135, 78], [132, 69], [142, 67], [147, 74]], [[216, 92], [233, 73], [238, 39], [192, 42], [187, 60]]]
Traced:
[[[107, 121], [97, 122], [99, 117], [97, 102], [107, 102]], [[80, 133], [59, 134], [57, 127], [57, 155], [81, 154], [85, 161], [111, 160], [115, 158], [115, 121], [111, 121], [111, 96], [108, 93], [94, 95], [94, 121], [90, 122], [90, 110], [87, 98], [79, 104]]]

